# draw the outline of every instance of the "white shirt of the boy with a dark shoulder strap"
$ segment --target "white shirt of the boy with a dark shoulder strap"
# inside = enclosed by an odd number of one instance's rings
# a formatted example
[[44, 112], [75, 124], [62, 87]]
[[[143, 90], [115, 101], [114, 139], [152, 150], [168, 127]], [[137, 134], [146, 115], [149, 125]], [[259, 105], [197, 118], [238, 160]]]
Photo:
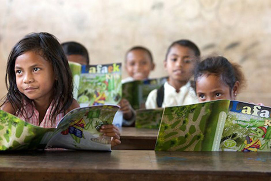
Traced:
[[[145, 103], [146, 109], [155, 109], [158, 108], [157, 102], [157, 89], [152, 90], [147, 98]], [[198, 103], [198, 98], [194, 89], [191, 87], [190, 81], [182, 86], [179, 92], [176, 92], [176, 89], [172, 87], [168, 82], [164, 84], [164, 101], [162, 108], [170, 106], [182, 106]]]

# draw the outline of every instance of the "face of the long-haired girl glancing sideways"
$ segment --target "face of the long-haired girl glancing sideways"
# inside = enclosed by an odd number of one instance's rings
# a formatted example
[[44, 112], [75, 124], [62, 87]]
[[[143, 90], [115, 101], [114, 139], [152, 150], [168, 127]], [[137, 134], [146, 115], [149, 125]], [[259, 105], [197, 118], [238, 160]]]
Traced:
[[56, 80], [53, 66], [34, 51], [28, 51], [15, 61], [16, 84], [21, 93], [35, 101], [48, 101]]

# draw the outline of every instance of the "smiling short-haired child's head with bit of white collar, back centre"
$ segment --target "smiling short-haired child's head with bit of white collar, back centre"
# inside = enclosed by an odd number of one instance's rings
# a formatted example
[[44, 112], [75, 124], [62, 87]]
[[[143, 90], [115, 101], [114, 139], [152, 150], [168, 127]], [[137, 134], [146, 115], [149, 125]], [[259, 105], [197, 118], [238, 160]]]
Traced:
[[122, 83], [147, 79], [154, 68], [151, 52], [143, 46], [134, 46], [125, 55], [125, 69], [129, 77], [122, 80]]

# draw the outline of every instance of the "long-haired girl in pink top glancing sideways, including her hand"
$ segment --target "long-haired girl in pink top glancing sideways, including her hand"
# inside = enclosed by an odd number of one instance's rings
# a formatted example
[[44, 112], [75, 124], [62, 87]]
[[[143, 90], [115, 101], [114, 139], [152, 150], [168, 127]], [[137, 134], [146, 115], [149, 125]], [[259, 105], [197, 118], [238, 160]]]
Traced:
[[[72, 98], [72, 76], [68, 60], [55, 36], [33, 33], [11, 50], [6, 68], [8, 93], [1, 109], [36, 126], [55, 127], [70, 110], [78, 108]], [[105, 136], [120, 144], [113, 125], [103, 125]]]

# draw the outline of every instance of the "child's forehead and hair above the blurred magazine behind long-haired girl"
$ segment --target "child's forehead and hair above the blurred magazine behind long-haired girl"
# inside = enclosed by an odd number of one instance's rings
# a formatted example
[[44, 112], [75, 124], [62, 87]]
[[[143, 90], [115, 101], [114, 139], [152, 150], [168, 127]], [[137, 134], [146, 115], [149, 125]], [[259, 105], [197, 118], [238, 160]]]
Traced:
[[89, 65], [88, 50], [80, 43], [68, 41], [61, 44], [68, 61], [79, 63], [81, 65]]

